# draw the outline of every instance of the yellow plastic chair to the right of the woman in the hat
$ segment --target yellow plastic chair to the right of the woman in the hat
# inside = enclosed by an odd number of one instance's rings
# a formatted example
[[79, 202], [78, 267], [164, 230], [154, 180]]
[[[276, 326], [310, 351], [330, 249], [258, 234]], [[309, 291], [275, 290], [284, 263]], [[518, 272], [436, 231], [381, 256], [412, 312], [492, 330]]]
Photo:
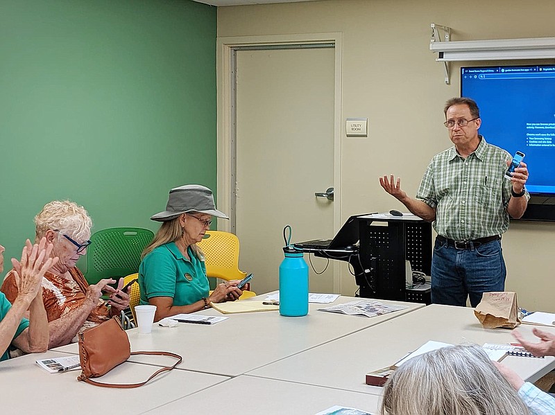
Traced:
[[[233, 233], [207, 231], [197, 244], [205, 254], [206, 274], [225, 281], [244, 279], [246, 272], [239, 270], [239, 238]], [[239, 299], [255, 297], [253, 291], [244, 290]]]

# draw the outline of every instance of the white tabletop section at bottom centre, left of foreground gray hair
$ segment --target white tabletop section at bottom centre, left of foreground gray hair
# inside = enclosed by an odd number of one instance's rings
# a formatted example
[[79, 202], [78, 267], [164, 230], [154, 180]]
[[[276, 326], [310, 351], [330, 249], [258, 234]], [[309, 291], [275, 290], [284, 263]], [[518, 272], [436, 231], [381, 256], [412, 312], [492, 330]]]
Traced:
[[334, 405], [377, 414], [380, 402], [377, 395], [241, 375], [146, 414], [311, 415]]

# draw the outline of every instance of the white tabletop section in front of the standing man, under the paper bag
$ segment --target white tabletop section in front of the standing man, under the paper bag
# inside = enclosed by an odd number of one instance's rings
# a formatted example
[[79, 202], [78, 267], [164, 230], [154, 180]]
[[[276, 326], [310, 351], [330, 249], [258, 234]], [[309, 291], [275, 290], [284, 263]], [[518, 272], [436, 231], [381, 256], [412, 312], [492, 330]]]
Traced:
[[[531, 329], [521, 325], [517, 330], [533, 339]], [[555, 328], [546, 329], [555, 333]], [[391, 366], [428, 340], [480, 345], [514, 341], [511, 330], [483, 328], [472, 308], [432, 304], [246, 374], [379, 395], [381, 387], [364, 383], [366, 373]], [[530, 382], [555, 369], [555, 357], [507, 356], [503, 363]]]

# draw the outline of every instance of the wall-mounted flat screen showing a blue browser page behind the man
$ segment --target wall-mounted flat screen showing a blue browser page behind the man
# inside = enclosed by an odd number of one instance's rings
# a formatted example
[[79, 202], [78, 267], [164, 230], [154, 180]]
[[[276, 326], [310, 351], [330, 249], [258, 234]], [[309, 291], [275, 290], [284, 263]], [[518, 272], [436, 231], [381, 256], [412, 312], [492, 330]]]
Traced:
[[462, 67], [461, 96], [478, 104], [488, 143], [526, 154], [524, 219], [555, 220], [555, 65]]

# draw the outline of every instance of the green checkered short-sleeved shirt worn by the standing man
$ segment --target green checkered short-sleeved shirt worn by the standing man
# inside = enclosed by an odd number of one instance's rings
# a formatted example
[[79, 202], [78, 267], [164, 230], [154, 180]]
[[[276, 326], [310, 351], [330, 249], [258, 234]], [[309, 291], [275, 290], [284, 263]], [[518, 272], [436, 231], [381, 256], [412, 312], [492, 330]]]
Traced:
[[[506, 211], [511, 181], [504, 178], [511, 154], [486, 143], [463, 159], [454, 146], [436, 154], [416, 198], [436, 208], [434, 229], [453, 240], [500, 235], [509, 229]], [[525, 197], [529, 198], [528, 192]]]

